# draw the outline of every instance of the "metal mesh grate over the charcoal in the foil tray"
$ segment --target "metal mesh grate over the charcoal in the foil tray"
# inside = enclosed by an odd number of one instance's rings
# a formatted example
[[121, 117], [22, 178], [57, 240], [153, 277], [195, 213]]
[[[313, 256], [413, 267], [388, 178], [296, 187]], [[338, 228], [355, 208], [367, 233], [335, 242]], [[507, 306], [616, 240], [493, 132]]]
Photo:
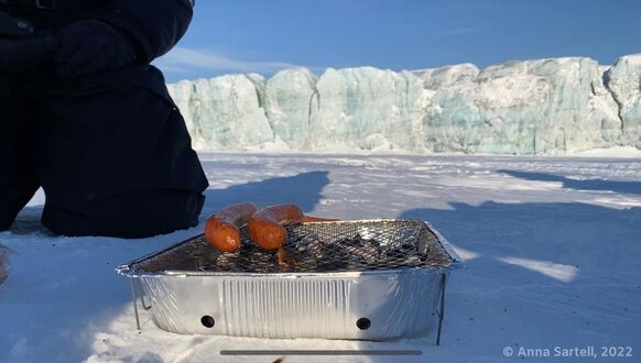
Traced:
[[242, 246], [236, 253], [221, 254], [199, 235], [137, 265], [148, 272], [317, 273], [447, 267], [454, 263], [421, 221], [303, 223], [286, 230], [287, 243], [278, 253], [261, 250], [241, 229]]

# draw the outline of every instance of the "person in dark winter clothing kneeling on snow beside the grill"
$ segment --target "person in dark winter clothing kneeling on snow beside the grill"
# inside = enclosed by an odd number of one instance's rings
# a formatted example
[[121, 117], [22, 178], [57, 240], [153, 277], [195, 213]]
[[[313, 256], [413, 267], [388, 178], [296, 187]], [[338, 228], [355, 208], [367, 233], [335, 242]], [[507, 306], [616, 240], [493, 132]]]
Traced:
[[192, 0], [0, 0], [0, 230], [42, 187], [63, 235], [197, 223], [207, 179], [160, 70]]

